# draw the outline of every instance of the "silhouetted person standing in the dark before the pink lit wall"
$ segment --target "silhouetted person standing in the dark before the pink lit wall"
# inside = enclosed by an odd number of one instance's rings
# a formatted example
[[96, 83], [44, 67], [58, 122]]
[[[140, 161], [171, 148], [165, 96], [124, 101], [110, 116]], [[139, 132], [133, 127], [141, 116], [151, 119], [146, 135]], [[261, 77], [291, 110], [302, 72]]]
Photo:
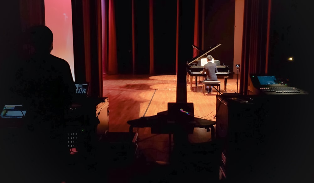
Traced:
[[[14, 92], [27, 107], [28, 140], [21, 153], [29, 154], [25, 163], [52, 179], [65, 172], [67, 148], [67, 111], [76, 87], [66, 60], [51, 55], [53, 34], [46, 26], [31, 27], [27, 32], [29, 55], [16, 72]], [[18, 67], [18, 66], [17, 66]], [[27, 160], [29, 159], [29, 160]], [[33, 173], [36, 176], [36, 172]], [[41, 180], [41, 182], [49, 182]], [[60, 180], [56, 177], [56, 180]], [[56, 181], [51, 181], [56, 182]], [[61, 182], [61, 180], [60, 180]]]

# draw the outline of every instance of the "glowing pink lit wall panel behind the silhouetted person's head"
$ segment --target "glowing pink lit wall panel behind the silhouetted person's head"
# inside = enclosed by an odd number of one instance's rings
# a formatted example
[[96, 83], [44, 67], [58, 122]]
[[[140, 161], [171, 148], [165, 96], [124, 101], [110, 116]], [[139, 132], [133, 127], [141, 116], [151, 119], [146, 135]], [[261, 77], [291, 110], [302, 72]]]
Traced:
[[51, 54], [69, 63], [74, 80], [71, 0], [45, 0], [45, 24], [53, 33]]

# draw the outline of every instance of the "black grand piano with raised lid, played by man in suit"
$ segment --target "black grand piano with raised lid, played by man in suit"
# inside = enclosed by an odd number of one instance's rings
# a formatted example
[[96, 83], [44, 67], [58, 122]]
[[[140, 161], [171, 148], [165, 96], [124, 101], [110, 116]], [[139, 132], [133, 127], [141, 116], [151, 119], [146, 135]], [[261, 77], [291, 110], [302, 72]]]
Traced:
[[[197, 86], [197, 77], [198, 76], [206, 76], [205, 74], [200, 74], [200, 71], [203, 70], [203, 66], [200, 66], [200, 59], [202, 57], [205, 57], [209, 52], [211, 52], [212, 50], [215, 50], [216, 48], [218, 48], [221, 44], [217, 44], [214, 46], [211, 46], [208, 50], [201, 50], [199, 49], [197, 46], [193, 46], [193, 48], [195, 48], [196, 50], [198, 50], [200, 52], [199, 55], [197, 55], [196, 57], [192, 58], [191, 60], [187, 61], [187, 81], [189, 81], [189, 76], [190, 76], [190, 83], [191, 83], [191, 90], [192, 90], [192, 78], [193, 76], [196, 77], [195, 79], [195, 85]], [[230, 69], [229, 66], [227, 65], [217, 65], [217, 70], [218, 72], [216, 73], [217, 77], [223, 77], [224, 78], [224, 90], [227, 91], [227, 79], [228, 76], [230, 74]]]

